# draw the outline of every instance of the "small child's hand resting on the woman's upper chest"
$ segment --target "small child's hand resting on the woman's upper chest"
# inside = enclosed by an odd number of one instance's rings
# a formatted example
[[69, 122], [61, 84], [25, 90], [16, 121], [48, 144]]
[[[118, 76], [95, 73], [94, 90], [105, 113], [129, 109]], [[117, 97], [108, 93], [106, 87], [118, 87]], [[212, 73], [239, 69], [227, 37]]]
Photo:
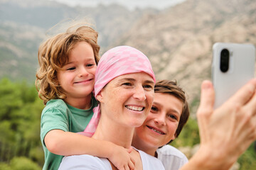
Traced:
[[125, 149], [124, 147], [120, 147], [118, 145], [114, 145], [113, 148], [110, 149], [112, 152], [110, 154], [110, 162], [114, 164], [119, 170], [133, 170], [134, 169], [134, 160], [132, 159], [129, 153], [132, 152], [132, 147], [129, 149]]

